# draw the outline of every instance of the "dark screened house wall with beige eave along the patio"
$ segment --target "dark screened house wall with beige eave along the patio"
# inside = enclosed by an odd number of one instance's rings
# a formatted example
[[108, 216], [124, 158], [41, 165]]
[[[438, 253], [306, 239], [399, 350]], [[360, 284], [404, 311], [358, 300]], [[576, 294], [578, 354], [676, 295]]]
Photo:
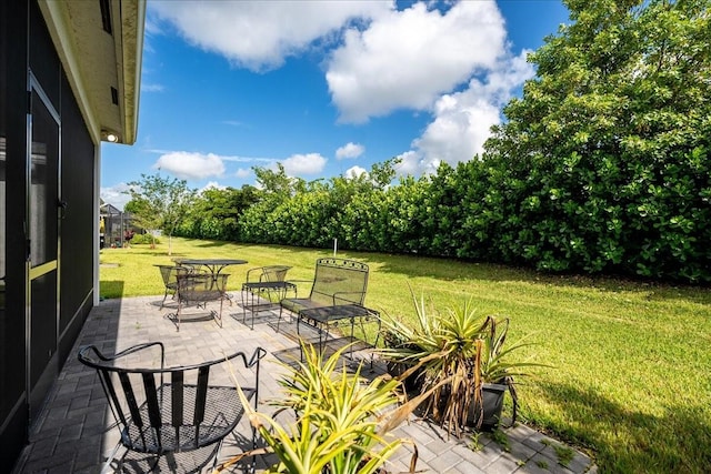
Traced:
[[146, 2], [0, 2], [0, 467], [99, 301], [100, 144], [136, 141]]

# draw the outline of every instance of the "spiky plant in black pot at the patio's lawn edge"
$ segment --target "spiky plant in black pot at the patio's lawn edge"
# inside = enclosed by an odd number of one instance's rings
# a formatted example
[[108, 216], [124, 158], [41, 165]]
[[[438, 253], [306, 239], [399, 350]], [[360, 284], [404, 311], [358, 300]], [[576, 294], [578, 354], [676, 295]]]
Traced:
[[525, 367], [540, 364], [511, 361], [510, 355], [527, 344], [505, 344], [509, 320], [487, 316], [482, 321], [471, 300], [447, 309], [443, 314], [428, 312], [423, 299], [418, 302], [414, 294], [413, 301], [417, 315], [413, 326], [391, 317], [383, 320], [385, 347], [380, 354], [389, 364], [409, 366], [393, 374], [395, 379], [420, 372], [420, 393], [432, 392], [425, 403], [427, 413], [458, 436], [464, 426], [495, 428], [507, 391], [513, 400], [515, 420], [518, 396], [513, 377], [525, 375]]

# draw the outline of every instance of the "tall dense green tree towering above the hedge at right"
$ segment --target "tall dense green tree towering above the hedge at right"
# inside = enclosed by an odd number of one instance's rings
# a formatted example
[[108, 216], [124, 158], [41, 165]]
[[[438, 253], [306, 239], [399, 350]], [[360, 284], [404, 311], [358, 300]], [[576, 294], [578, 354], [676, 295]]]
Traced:
[[542, 270], [711, 281], [708, 0], [567, 4], [485, 145], [498, 241]]

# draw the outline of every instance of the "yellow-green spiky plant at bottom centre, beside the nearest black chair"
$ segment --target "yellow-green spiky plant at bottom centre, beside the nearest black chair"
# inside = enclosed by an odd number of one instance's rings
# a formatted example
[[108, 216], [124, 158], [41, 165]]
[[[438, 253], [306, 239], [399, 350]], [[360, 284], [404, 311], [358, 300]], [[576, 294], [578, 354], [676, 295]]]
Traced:
[[[384, 377], [365, 381], [360, 366], [350, 373], [339, 362], [347, 349], [324, 359], [313, 346], [304, 345], [303, 362], [282, 364], [288, 372], [279, 381], [284, 397], [270, 402], [278, 407], [277, 413], [267, 415], [244, 404], [250, 423], [267, 443], [262, 451], [274, 453], [279, 460], [268, 472], [383, 474], [388, 457], [405, 442], [390, 432], [424, 397], [401, 404], [397, 381]], [[236, 384], [239, 389], [237, 380]], [[243, 397], [241, 390], [239, 393]], [[293, 412], [296, 420], [278, 421], [283, 412]], [[221, 470], [252, 454], [259, 452], [236, 456]], [[411, 472], [415, 462], [413, 456]]]

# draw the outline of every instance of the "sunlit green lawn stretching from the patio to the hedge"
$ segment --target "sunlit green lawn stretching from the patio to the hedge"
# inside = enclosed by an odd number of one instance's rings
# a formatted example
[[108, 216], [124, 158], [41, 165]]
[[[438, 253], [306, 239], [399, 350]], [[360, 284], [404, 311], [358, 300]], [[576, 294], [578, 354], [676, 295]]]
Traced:
[[[292, 265], [313, 276], [332, 250], [173, 239], [172, 256], [234, 258], [229, 289], [248, 268]], [[600, 472], [708, 472], [711, 466], [711, 290], [615, 279], [551, 276], [445, 259], [339, 252], [370, 265], [367, 304], [412, 317], [408, 284], [438, 307], [473, 299], [482, 314], [511, 319], [510, 337], [553, 367], [519, 381], [527, 424], [591, 454]], [[162, 295], [153, 264], [167, 244], [101, 252], [101, 295]], [[302, 284], [300, 294], [308, 292]]]

